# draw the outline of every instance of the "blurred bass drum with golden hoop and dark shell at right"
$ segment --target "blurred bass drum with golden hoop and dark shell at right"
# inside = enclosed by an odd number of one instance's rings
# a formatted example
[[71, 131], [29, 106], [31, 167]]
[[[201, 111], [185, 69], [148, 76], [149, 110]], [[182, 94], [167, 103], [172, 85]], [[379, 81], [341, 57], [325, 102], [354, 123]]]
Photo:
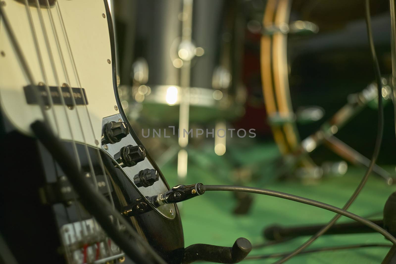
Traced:
[[[373, 38], [386, 77], [392, 71], [388, 4], [371, 4]], [[353, 102], [375, 91], [362, 2], [268, 0], [262, 33], [263, 95], [282, 155], [298, 157], [297, 167], [314, 178], [325, 173], [317, 164], [337, 156], [356, 165], [367, 164], [365, 157], [371, 157], [375, 143], [377, 113], [365, 106], [375, 108], [377, 99]], [[388, 99], [389, 79], [384, 78], [383, 84], [383, 97]], [[390, 153], [395, 147], [393, 117], [385, 115], [385, 123], [384, 141], [389, 144], [383, 144], [382, 151]], [[328, 149], [316, 150], [322, 143]], [[380, 161], [393, 162], [385, 155]], [[345, 173], [345, 165], [337, 163], [334, 172]], [[289, 172], [297, 171], [294, 167]], [[389, 181], [381, 168], [375, 172]]]

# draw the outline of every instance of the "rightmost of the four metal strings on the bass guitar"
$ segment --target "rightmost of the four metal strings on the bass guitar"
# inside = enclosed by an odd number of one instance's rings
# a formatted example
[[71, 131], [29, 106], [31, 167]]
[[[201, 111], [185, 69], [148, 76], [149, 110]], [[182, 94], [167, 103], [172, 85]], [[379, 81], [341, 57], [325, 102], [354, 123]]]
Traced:
[[[64, 34], [65, 39], [66, 39], [66, 42], [67, 42], [67, 48], [68, 48], [68, 51], [69, 51], [70, 59], [71, 59], [71, 61], [72, 61], [74, 74], [76, 75], [76, 79], [77, 79], [77, 81], [78, 81], [78, 86], [79, 86], [79, 88], [80, 88], [80, 93], [82, 94], [82, 85], [81, 85], [81, 81], [80, 81], [80, 76], [78, 75], [76, 62], [75, 62], [75, 60], [74, 60], [74, 56], [73, 56], [73, 53], [72, 53], [72, 50], [71, 50], [71, 45], [70, 45], [70, 41], [69, 41], [69, 36], [67, 35], [67, 31], [66, 31], [65, 23], [64, 23], [64, 21], [63, 21], [63, 16], [62, 16], [61, 8], [60, 8], [60, 6], [59, 6], [59, 1], [57, 1], [56, 4], [57, 4], [57, 7], [58, 7], [58, 10], [57, 10], [57, 11], [59, 12], [59, 18], [60, 18], [61, 25], [62, 25], [62, 28], [63, 28], [63, 34]], [[92, 121], [91, 121], [91, 117], [90, 117], [90, 115], [89, 115], [88, 106], [87, 106], [87, 103], [86, 103], [85, 96], [83, 96], [82, 99], [83, 99], [83, 102], [84, 102], [84, 105], [85, 105], [85, 109], [86, 109], [86, 111], [87, 111], [88, 120], [89, 120], [89, 124], [90, 124], [90, 126], [91, 126], [92, 134], [93, 134], [93, 137], [95, 138], [95, 132], [94, 132], [94, 130], [93, 130], [93, 124], [92, 124]], [[98, 144], [99, 144], [99, 143], [98, 143]], [[97, 145], [98, 145], [98, 144], [97, 144]], [[109, 195], [110, 202], [111, 202], [111, 204], [112, 204], [113, 209], [115, 209], [114, 200], [113, 200], [112, 195], [111, 195], [111, 192], [110, 192], [110, 185], [109, 185], [109, 181], [107, 180], [107, 174], [106, 174], [106, 172], [105, 172], [105, 166], [104, 166], [104, 164], [103, 164], [103, 160], [102, 160], [102, 157], [101, 157], [101, 155], [100, 155], [99, 147], [96, 148], [96, 151], [97, 151], [97, 156], [99, 157], [99, 163], [100, 163], [100, 166], [101, 166], [101, 170], [102, 170], [103, 176], [104, 176], [104, 178], [105, 178], [105, 184], [106, 184], [106, 186], [107, 186], [107, 191], [110, 193], [110, 195]], [[117, 218], [116, 222], [117, 222], [118, 228], [120, 228], [120, 221], [118, 220], [118, 218]]]

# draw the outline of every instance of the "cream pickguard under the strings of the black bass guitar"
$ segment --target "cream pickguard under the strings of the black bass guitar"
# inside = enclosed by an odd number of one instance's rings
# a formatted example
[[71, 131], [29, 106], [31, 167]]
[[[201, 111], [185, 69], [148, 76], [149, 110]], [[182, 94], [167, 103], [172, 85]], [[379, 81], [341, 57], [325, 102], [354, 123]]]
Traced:
[[[40, 67], [25, 4], [15, 0], [6, 0], [3, 9], [10, 20], [35, 84], [44, 82], [45, 78]], [[57, 86], [66, 83], [77, 88], [80, 88], [81, 84], [88, 99], [87, 107], [78, 105], [74, 109], [67, 107], [65, 109], [63, 105], [54, 105], [55, 115], [53, 115], [52, 109], [46, 110], [53, 131], [57, 132], [56, 118], [61, 139], [74, 139], [76, 142], [84, 143], [85, 137], [87, 144], [97, 146], [95, 140], [101, 141], [102, 119], [119, 113], [114, 107], [117, 103], [113, 90], [112, 61], [110, 64], [107, 61], [108, 59], [112, 60], [112, 57], [107, 17], [103, 17], [103, 14], [106, 14], [105, 4], [103, 0], [57, 0], [55, 6], [50, 9], [41, 8], [50, 49], [46, 46], [44, 27], [40, 23], [38, 9], [36, 6], [30, 6], [29, 9], [44, 62], [47, 84]], [[61, 60], [49, 12], [52, 12], [65, 67]], [[69, 39], [71, 53], [65, 32]], [[56, 75], [51, 65], [49, 50], [53, 54], [59, 83], [56, 81]], [[30, 124], [37, 119], [43, 120], [42, 113], [38, 105], [29, 105], [26, 102], [23, 86], [28, 85], [29, 80], [21, 67], [1, 19], [0, 52], [2, 52], [0, 55], [0, 105], [2, 111], [17, 130], [24, 134], [31, 134]], [[72, 57], [76, 68], [73, 66]], [[76, 72], [80, 82], [78, 82]], [[70, 83], [67, 75], [69, 75]], [[78, 121], [78, 115], [82, 126]]]

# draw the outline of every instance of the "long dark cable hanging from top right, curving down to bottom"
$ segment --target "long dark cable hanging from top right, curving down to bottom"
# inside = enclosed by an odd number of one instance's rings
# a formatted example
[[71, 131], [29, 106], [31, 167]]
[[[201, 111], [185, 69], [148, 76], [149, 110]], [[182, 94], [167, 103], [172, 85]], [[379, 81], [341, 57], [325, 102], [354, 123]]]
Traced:
[[[381, 82], [381, 72], [379, 70], [379, 65], [378, 65], [378, 59], [377, 55], [375, 53], [375, 46], [373, 42], [373, 36], [371, 33], [371, 18], [370, 18], [370, 6], [369, 6], [369, 0], [366, 0], [366, 5], [365, 5], [365, 20], [366, 20], [366, 26], [367, 26], [367, 37], [369, 39], [369, 46], [370, 46], [370, 52], [371, 52], [371, 57], [373, 59], [373, 66], [374, 66], [374, 72], [375, 72], [375, 78], [377, 80], [377, 89], [378, 89], [378, 128], [377, 128], [377, 139], [375, 142], [375, 147], [373, 151], [373, 155], [371, 157], [370, 164], [366, 170], [366, 173], [364, 174], [362, 180], [360, 181], [358, 187], [356, 187], [354, 193], [351, 195], [351, 197], [348, 199], [346, 204], [344, 205], [343, 209], [348, 209], [350, 205], [355, 201], [355, 199], [358, 197], [360, 191], [363, 189], [364, 185], [367, 182], [367, 179], [369, 177], [369, 174], [371, 173], [371, 170], [373, 169], [373, 166], [375, 165], [375, 161], [377, 160], [378, 154], [379, 154], [379, 149], [381, 148], [381, 141], [382, 141], [382, 134], [383, 134], [383, 103], [382, 103], [382, 93], [381, 93], [381, 88], [382, 88], [382, 82]], [[305, 243], [303, 243], [300, 247], [295, 249], [292, 253], [289, 255], [285, 256], [284, 258], [274, 262], [274, 264], [281, 264], [286, 262], [288, 259], [292, 258], [293, 256], [297, 255], [301, 251], [303, 251], [305, 248], [307, 248], [310, 244], [312, 244], [318, 237], [326, 233], [331, 226], [341, 217], [340, 214], [337, 214], [336, 216], [331, 219], [331, 221], [324, 226], [318, 233], [310, 237]]]

